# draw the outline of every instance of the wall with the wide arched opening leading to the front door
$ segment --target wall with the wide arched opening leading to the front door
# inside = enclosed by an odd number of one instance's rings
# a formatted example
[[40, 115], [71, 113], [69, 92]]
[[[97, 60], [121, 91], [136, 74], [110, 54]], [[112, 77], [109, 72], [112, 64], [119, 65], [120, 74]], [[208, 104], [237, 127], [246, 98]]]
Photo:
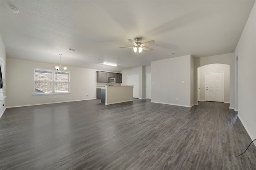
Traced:
[[235, 100], [235, 55], [234, 53], [214, 55], [194, 59], [194, 101], [197, 102], [197, 68], [208, 64], [228, 64], [230, 66], [230, 108], [234, 109]]

